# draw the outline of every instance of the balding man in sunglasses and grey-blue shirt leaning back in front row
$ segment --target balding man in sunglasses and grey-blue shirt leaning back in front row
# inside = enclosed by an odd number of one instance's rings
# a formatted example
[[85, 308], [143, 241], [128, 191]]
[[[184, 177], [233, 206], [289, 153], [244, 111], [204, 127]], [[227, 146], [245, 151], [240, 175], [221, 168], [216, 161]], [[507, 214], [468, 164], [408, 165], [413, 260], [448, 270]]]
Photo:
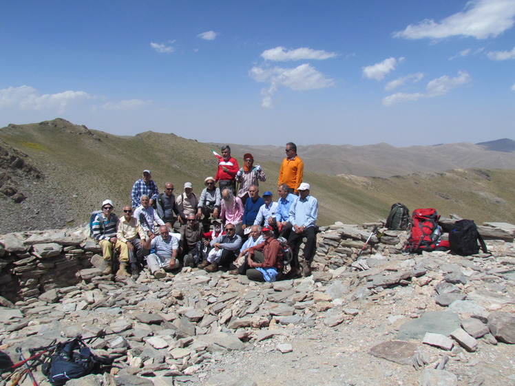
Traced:
[[[209, 251], [207, 260], [198, 268], [204, 268], [206, 272], [216, 272], [219, 266], [229, 267], [236, 259], [236, 251], [242, 246], [242, 238], [236, 235], [234, 224], [228, 222], [225, 226], [225, 235], [220, 235], [211, 240], [213, 247]], [[208, 265], [209, 264], [209, 265]]]

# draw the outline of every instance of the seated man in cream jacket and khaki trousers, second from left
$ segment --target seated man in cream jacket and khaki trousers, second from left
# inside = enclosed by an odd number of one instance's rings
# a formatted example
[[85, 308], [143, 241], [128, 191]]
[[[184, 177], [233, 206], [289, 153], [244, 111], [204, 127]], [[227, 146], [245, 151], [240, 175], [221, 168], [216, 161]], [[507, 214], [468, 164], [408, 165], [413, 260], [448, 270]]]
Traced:
[[[147, 235], [141, 227], [136, 217], [132, 217], [132, 206], [123, 207], [123, 217], [118, 220], [118, 232], [116, 233], [116, 250], [120, 251], [120, 270], [116, 275], [132, 276], [132, 279], [138, 279], [139, 271], [137, 264], [142, 264], [143, 256], [147, 252], [143, 248]], [[125, 270], [125, 261], [129, 261], [131, 265], [131, 274]]]

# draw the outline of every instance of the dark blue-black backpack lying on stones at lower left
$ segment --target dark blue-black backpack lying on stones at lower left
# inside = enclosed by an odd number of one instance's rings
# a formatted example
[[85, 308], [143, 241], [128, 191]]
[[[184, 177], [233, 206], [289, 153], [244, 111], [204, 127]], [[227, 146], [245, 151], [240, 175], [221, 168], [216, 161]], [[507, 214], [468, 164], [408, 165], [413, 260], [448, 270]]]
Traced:
[[101, 374], [112, 365], [114, 358], [94, 355], [81, 338], [60, 343], [50, 364], [43, 368], [43, 374], [54, 386], [64, 385], [70, 379], [88, 374]]

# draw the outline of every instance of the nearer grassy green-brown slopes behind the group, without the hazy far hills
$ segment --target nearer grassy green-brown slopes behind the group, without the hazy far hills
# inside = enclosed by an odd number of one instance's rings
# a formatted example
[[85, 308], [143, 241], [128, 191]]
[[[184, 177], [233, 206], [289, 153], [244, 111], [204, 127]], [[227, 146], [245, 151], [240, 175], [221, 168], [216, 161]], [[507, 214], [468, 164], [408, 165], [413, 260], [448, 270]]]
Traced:
[[[114, 200], [120, 212], [120, 206], [129, 203], [132, 184], [143, 169], [151, 169], [160, 190], [168, 180], [174, 182], [176, 195], [186, 181], [191, 181], [200, 195], [204, 178], [216, 171], [211, 145], [174, 134], [145, 132], [120, 137], [59, 121], [1, 129], [0, 138], [26, 153], [28, 162], [43, 171], [43, 189], [65, 201], [76, 223], [85, 222], [106, 197]], [[242, 154], [233, 156], [241, 162]], [[260, 164], [268, 177], [261, 191], [270, 190], [277, 198], [279, 164]], [[319, 200], [322, 225], [374, 222], [386, 217], [394, 202], [403, 202], [410, 210], [434, 207], [441, 215], [456, 213], [476, 222], [513, 222], [514, 177], [513, 170], [456, 170], [389, 179], [307, 171], [304, 181], [311, 184], [312, 194]]]

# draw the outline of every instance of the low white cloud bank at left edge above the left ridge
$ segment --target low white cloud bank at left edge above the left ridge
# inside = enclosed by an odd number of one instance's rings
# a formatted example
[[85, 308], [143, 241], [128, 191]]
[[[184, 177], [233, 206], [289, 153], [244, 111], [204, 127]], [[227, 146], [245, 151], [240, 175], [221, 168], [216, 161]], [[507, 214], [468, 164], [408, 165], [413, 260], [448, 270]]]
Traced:
[[71, 91], [57, 94], [38, 95], [37, 90], [30, 86], [9, 87], [0, 89], [0, 108], [20, 110], [56, 110], [63, 113], [72, 103], [81, 103], [94, 98], [87, 92]]

